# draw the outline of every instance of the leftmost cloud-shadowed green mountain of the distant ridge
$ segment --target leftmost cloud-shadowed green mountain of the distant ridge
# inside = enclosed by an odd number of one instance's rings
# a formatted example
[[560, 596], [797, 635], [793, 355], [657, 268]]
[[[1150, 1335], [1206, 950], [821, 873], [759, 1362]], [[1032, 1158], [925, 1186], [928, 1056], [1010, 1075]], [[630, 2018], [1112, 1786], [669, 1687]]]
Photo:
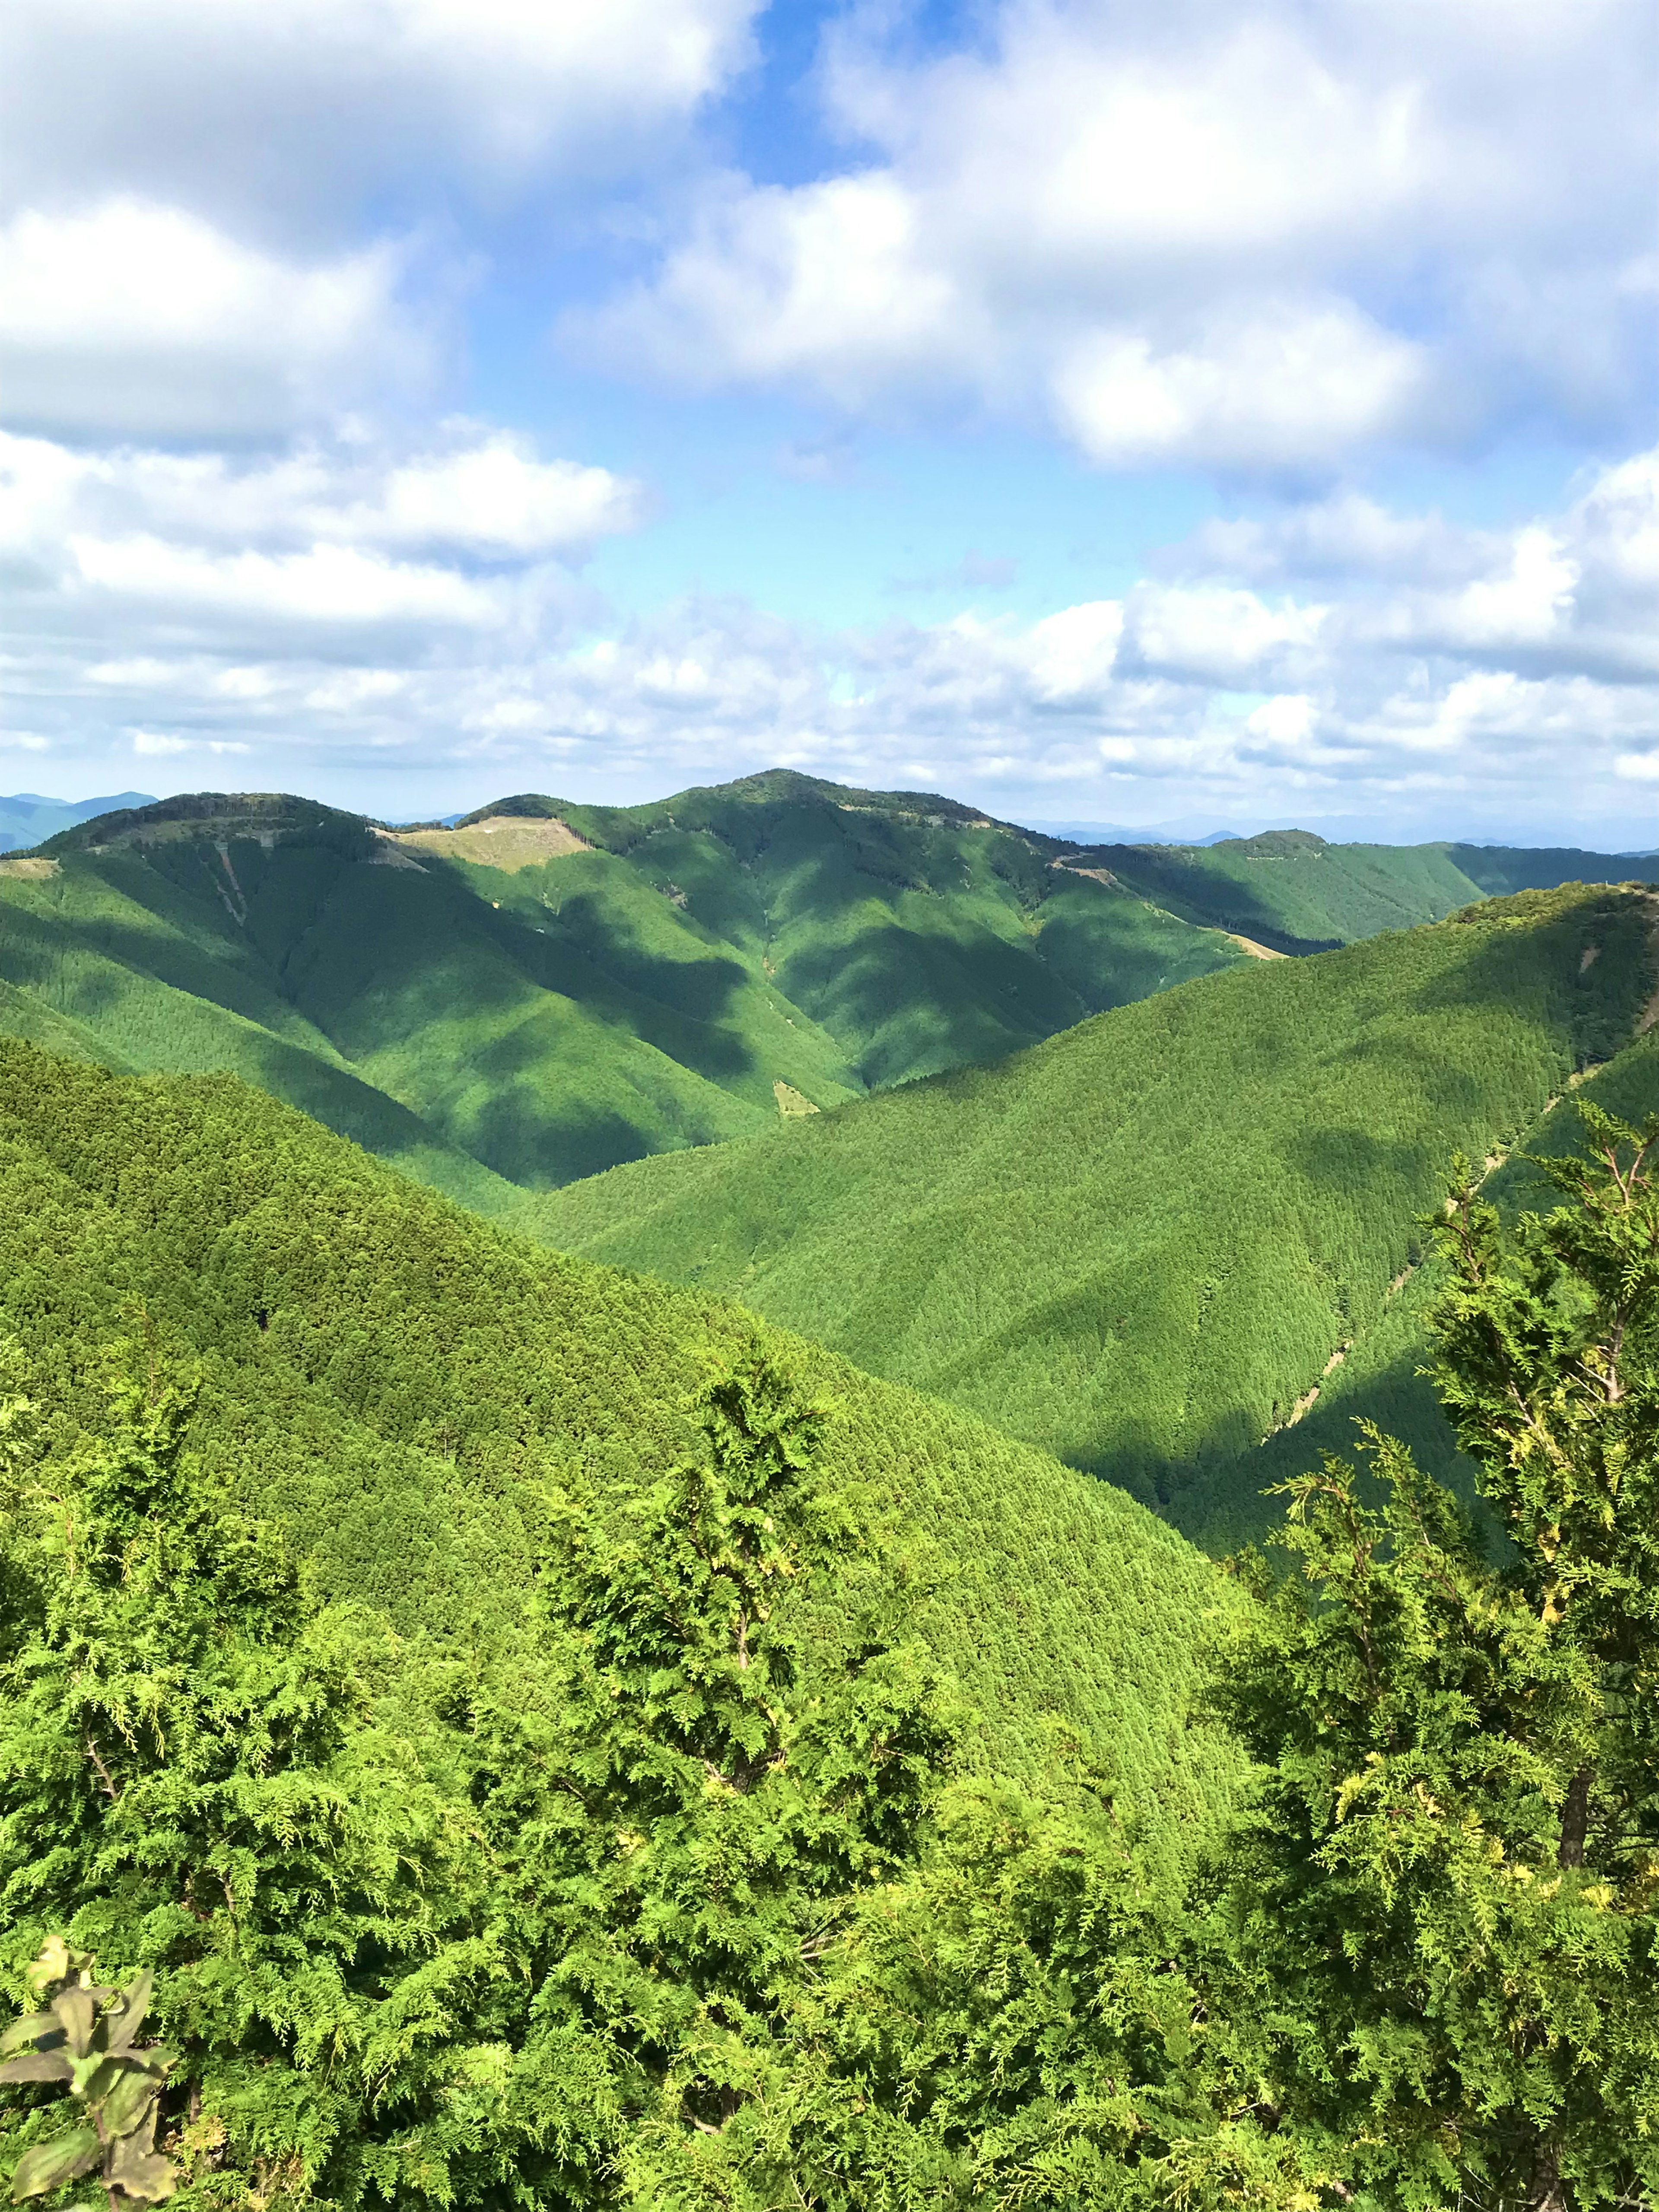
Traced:
[[[239, 1068], [380, 1148], [330, 1102], [349, 1071], [354, 1097], [383, 1093], [482, 1164], [480, 1186], [761, 1128], [776, 1079], [825, 1099], [856, 1086], [630, 872], [602, 922], [604, 891], [566, 880], [564, 927], [520, 878], [482, 874], [478, 889], [301, 801], [170, 801], [0, 863], [0, 975], [139, 1066]], [[261, 1066], [223, 1015], [316, 1066]]]

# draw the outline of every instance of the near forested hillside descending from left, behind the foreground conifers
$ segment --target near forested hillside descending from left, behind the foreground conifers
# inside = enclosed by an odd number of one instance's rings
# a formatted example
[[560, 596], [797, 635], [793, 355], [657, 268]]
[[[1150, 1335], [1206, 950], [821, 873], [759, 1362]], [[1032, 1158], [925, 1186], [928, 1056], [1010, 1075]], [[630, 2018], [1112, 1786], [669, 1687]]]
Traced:
[[[53, 1429], [97, 1429], [102, 1354], [199, 1367], [197, 1447], [409, 1635], [489, 1637], [538, 1498], [686, 1449], [686, 1391], [754, 1323], [522, 1243], [232, 1077], [113, 1077], [0, 1042], [0, 1332]], [[1051, 1721], [1166, 1836], [1225, 1761], [1186, 1725], [1219, 1601], [1141, 1506], [971, 1416], [765, 1332], [836, 1405], [830, 1467], [933, 1551], [918, 1628], [1035, 1774]]]

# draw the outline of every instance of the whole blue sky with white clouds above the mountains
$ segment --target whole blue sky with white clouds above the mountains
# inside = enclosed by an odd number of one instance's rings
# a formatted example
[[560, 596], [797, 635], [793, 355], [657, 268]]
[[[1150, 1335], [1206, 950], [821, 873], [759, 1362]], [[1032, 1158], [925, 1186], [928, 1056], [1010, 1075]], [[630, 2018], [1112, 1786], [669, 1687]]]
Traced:
[[1650, 0], [9, 0], [0, 790], [1655, 847], [1657, 113]]

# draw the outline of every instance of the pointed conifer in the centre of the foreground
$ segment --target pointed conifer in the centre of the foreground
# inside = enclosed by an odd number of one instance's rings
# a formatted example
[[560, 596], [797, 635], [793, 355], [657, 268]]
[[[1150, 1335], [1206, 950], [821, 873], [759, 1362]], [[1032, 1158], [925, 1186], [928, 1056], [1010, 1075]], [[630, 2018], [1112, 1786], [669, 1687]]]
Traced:
[[[927, 1834], [951, 1721], [905, 1564], [874, 1573], [821, 1482], [823, 1409], [752, 1345], [695, 1413], [699, 1455], [562, 1515], [540, 1681], [473, 1712], [482, 1818], [544, 2033], [608, 2053], [615, 2201], [852, 2205], [860, 2099], [814, 1997]], [[830, 2197], [801, 2194], [803, 2159]]]

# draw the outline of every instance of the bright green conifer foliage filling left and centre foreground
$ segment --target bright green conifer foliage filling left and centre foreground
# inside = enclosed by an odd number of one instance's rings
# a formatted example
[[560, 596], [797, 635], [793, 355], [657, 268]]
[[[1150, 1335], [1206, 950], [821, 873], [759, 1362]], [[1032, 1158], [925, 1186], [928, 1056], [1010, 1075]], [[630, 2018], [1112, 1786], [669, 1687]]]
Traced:
[[[20, 2194], [108, 2157], [117, 2190], [155, 2201], [170, 2157], [204, 2212], [852, 2212], [876, 2181], [894, 2205], [980, 2203], [1004, 2170], [1029, 2201], [1051, 2137], [1055, 2172], [1113, 2170], [1128, 2137], [1106, 2084], [1048, 2126], [1011, 2044], [1106, 1924], [1150, 1924], [1141, 1878], [1115, 1832], [1119, 1902], [1091, 1876], [1082, 1933], [1060, 1916], [1066, 1958], [971, 2048], [956, 2013], [914, 2015], [918, 1944], [982, 2008], [962, 1911], [982, 1942], [1011, 1860], [1066, 1847], [1013, 1849], [962, 1805], [936, 1847], [958, 1723], [914, 1635], [929, 1562], [825, 1480], [836, 1413], [763, 1343], [695, 1394], [695, 1455], [626, 1491], [542, 1491], [533, 1582], [465, 1648], [319, 1604], [204, 1464], [206, 1391], [168, 1380], [153, 1340], [106, 1396], [108, 1433], [69, 1455], [29, 1438], [22, 1394], [0, 1405], [0, 1955], [20, 1971], [55, 1920], [86, 1947], [75, 1969], [93, 1947], [142, 1969], [91, 2037], [93, 1997], [64, 2000], [91, 2066], [55, 2055], [51, 2020], [22, 2024], [42, 2051], [4, 2075], [35, 2099], [4, 2137]], [[1013, 1885], [1011, 1947], [1046, 1960], [1033, 1887]], [[1141, 1982], [1170, 2033], [1183, 1986], [1164, 1989], [1159, 1940], [1084, 2042], [1106, 2037], [1099, 2066], [1146, 2046], [1161, 2084]], [[111, 2064], [150, 1973], [173, 2048]], [[1046, 2039], [1060, 2053], [1064, 2024]], [[918, 2095], [922, 2064], [938, 2086]], [[64, 2077], [95, 2115], [66, 2141], [33, 2088]], [[987, 2097], [1011, 2121], [980, 2143]]]

